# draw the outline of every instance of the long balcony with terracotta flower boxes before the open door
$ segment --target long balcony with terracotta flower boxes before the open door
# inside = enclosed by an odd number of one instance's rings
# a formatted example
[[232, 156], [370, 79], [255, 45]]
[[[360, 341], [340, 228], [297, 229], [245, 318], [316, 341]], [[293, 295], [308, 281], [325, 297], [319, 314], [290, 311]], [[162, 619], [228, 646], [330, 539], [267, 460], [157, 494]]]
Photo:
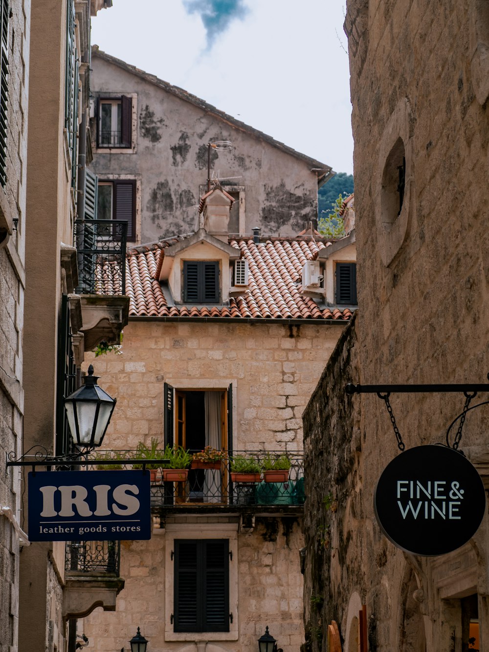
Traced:
[[[269, 451], [278, 457], [284, 451]], [[113, 456], [115, 467], [124, 466], [123, 459], [134, 458], [135, 451], [103, 452], [109, 459]], [[254, 456], [258, 460], [264, 451], [234, 451], [233, 455]], [[121, 458], [123, 458], [121, 460]], [[195, 512], [287, 512], [301, 513], [304, 504], [304, 458], [303, 453], [289, 454], [291, 467], [288, 478], [280, 482], [265, 481], [265, 474], [256, 479], [233, 480], [229, 460], [218, 468], [190, 468], [186, 478], [165, 481], [164, 469], [152, 469], [151, 511], [164, 516], [175, 513]]]

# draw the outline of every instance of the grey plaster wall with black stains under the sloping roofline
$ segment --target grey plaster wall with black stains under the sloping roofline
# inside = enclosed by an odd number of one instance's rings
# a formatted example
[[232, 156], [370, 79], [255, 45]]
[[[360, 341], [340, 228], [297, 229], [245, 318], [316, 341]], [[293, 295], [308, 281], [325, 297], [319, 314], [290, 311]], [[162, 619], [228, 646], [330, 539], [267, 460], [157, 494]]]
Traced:
[[211, 151], [211, 171], [244, 186], [246, 228], [294, 235], [317, 219], [318, 182], [314, 167], [250, 136], [207, 111], [168, 93], [149, 80], [92, 57], [92, 89], [97, 97], [134, 94], [138, 121], [133, 153], [96, 149], [92, 120], [92, 169], [106, 174], [141, 175], [141, 243], [192, 233], [198, 228], [198, 203], [207, 188], [207, 143], [230, 140], [231, 151]]

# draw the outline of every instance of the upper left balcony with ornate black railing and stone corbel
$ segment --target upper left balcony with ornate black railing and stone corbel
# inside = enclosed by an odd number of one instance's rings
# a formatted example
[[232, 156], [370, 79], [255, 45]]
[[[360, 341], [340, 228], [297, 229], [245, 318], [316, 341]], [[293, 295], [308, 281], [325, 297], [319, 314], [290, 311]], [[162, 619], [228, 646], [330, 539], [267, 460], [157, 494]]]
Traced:
[[75, 222], [78, 287], [74, 300], [79, 301], [82, 312], [80, 332], [85, 350], [95, 349], [102, 341], [119, 344], [127, 323], [126, 233], [125, 220]]

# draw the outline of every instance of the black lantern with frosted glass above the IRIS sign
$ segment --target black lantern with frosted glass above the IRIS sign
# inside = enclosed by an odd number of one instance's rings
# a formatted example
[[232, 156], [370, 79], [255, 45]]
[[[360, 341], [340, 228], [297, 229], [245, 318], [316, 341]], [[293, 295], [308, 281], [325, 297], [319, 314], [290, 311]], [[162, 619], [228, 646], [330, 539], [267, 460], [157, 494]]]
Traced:
[[115, 408], [116, 399], [98, 387], [98, 378], [93, 375], [93, 366], [90, 365], [82, 387], [65, 398], [68, 426], [77, 446], [100, 446]]

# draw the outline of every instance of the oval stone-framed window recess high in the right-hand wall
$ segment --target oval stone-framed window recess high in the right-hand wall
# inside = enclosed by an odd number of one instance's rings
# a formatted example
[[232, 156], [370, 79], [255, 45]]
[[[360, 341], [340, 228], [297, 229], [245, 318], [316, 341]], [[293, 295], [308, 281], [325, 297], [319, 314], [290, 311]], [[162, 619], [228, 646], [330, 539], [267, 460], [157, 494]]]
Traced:
[[[413, 117], [408, 98], [401, 98], [379, 145], [374, 186], [379, 253], [386, 267], [406, 243], [414, 220]], [[404, 168], [404, 190], [400, 190]], [[402, 195], [402, 196], [401, 196]]]

